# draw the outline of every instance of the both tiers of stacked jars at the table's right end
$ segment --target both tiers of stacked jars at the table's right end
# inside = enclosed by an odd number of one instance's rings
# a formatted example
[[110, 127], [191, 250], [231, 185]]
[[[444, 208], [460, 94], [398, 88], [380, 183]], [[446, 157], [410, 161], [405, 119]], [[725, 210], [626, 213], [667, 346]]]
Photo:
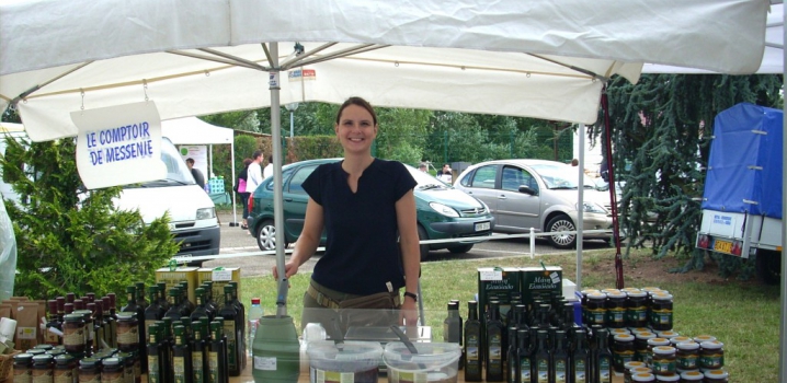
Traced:
[[613, 367], [626, 382], [727, 382], [723, 344], [673, 330], [673, 297], [659, 288], [582, 291], [582, 320], [609, 328]]

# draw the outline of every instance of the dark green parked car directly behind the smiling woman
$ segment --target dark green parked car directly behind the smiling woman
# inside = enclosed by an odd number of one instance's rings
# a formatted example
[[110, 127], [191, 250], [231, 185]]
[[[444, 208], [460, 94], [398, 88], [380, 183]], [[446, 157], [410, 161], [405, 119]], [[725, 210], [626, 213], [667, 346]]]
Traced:
[[[296, 162], [282, 169], [284, 185], [284, 246], [295, 243], [304, 230], [306, 204], [309, 196], [301, 184], [306, 177], [323, 163], [341, 159], [324, 159]], [[421, 259], [433, 249], [447, 248], [454, 254], [467, 253], [472, 245], [483, 242], [494, 229], [494, 218], [489, 208], [477, 198], [468, 196], [449, 185], [437, 181], [427, 173], [406, 165], [418, 182], [415, 186], [415, 208], [418, 210], [419, 239], [445, 240], [463, 239], [461, 242], [421, 245]], [[256, 237], [263, 251], [276, 247], [276, 229], [273, 221], [273, 177], [265, 178], [249, 198], [249, 232]], [[321, 244], [326, 243], [322, 233]]]

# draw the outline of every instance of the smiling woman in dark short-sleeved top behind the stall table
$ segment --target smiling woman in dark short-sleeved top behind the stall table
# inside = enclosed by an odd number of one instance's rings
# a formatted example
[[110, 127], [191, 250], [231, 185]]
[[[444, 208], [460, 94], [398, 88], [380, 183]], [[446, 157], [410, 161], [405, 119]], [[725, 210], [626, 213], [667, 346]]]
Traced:
[[[304, 294], [301, 326], [330, 326], [329, 316], [337, 315], [330, 309], [338, 307], [380, 309], [368, 318], [375, 325], [414, 326], [420, 271], [417, 182], [400, 162], [372, 156], [377, 116], [365, 100], [345, 101], [333, 130], [344, 159], [319, 165], [304, 182], [309, 195], [304, 230], [284, 266], [285, 278], [297, 274], [326, 230], [326, 252]], [[278, 272], [274, 267], [273, 277], [278, 279]]]

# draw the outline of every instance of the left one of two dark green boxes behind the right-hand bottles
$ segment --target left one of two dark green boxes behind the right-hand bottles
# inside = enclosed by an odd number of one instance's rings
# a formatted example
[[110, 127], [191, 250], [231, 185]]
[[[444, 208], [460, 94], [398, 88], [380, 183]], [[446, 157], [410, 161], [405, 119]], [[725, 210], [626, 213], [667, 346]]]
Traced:
[[520, 269], [515, 267], [479, 267], [478, 268], [478, 311], [479, 316], [489, 309], [489, 302], [500, 301], [500, 315], [511, 309], [511, 293], [522, 290]]

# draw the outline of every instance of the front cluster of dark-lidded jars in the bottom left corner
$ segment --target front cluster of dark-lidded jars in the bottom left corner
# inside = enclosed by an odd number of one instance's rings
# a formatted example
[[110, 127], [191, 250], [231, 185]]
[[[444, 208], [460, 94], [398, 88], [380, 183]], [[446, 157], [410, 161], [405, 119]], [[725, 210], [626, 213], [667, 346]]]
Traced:
[[13, 357], [14, 383], [140, 383], [136, 352], [104, 349], [90, 358], [64, 346], [38, 345]]

